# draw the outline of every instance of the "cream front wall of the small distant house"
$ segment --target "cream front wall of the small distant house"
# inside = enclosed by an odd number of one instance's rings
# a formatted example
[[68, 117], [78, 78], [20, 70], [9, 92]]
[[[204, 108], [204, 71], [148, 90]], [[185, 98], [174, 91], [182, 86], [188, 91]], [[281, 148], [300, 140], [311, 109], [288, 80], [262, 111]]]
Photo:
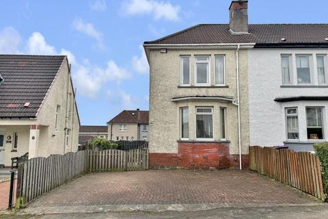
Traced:
[[[112, 141], [116, 141], [117, 137], [119, 140], [126, 140], [126, 137], [128, 137], [128, 140], [131, 140], [133, 137], [134, 140], [138, 140], [138, 125], [135, 124], [124, 124], [126, 125], [126, 131], [120, 131], [120, 124], [113, 124], [113, 126], [109, 123], [108, 125], [108, 139]], [[112, 130], [111, 130], [112, 129]], [[111, 138], [111, 139], [110, 139]]]

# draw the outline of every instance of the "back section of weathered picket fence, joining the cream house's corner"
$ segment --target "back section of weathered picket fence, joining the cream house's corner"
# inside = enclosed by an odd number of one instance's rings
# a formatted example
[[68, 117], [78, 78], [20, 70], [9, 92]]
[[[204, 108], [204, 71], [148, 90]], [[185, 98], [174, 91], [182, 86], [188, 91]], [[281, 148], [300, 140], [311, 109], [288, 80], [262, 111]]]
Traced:
[[87, 171], [148, 170], [148, 150], [87, 150]]

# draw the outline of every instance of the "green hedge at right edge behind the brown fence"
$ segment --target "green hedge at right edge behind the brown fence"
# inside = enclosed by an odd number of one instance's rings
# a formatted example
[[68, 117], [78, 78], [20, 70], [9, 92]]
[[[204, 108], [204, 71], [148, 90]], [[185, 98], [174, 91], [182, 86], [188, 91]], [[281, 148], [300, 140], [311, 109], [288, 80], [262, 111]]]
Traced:
[[320, 159], [323, 167], [323, 186], [325, 187], [326, 197], [328, 194], [328, 142], [314, 144], [314, 151]]

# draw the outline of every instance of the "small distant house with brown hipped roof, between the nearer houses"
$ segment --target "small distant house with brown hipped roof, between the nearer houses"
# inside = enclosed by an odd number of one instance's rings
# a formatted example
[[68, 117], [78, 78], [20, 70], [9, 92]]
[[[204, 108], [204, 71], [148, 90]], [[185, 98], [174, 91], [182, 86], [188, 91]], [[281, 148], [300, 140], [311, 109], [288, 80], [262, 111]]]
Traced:
[[123, 110], [108, 123], [108, 140], [148, 141], [148, 117], [146, 110]]

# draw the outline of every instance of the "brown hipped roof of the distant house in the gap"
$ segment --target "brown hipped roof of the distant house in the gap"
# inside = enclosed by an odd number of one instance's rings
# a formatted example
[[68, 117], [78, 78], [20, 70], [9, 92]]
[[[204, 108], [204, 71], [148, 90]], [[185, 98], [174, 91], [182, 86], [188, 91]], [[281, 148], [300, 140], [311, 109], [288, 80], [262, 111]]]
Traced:
[[137, 123], [148, 124], [149, 111], [146, 110], [123, 110], [112, 118], [108, 123]]

